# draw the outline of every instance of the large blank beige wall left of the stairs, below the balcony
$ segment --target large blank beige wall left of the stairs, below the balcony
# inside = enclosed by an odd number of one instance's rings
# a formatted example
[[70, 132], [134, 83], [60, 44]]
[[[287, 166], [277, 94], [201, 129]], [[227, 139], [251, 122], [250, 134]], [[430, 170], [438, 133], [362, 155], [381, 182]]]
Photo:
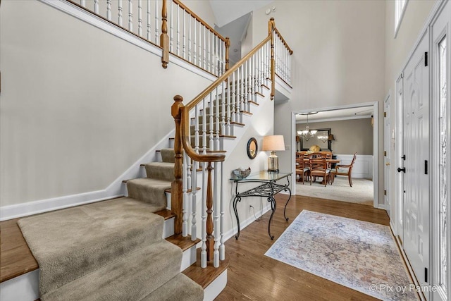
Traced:
[[39, 1], [0, 14], [1, 207], [106, 188], [210, 83]]

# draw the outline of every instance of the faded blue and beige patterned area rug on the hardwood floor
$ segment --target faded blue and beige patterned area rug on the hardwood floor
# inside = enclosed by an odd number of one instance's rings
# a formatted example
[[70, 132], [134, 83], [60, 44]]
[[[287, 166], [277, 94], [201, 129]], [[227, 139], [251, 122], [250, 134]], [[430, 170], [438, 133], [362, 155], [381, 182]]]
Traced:
[[381, 300], [417, 300], [388, 226], [304, 210], [265, 255]]

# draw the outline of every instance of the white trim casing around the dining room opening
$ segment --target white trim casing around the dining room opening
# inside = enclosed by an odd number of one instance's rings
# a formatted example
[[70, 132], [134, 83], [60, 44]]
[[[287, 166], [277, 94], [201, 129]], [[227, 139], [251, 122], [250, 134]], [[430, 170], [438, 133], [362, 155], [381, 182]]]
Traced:
[[[360, 104], [347, 104], [345, 106], [329, 106], [324, 108], [311, 108], [302, 109], [298, 111], [291, 112], [291, 137], [296, 135], [296, 114], [297, 113], [308, 113], [311, 111], [333, 111], [340, 109], [352, 109], [359, 108], [362, 106], [373, 106], [373, 207], [379, 209], [385, 209], [383, 204], [379, 204], [379, 102], [364, 102]], [[291, 166], [292, 166], [292, 194], [296, 195], [296, 139], [291, 138]]]

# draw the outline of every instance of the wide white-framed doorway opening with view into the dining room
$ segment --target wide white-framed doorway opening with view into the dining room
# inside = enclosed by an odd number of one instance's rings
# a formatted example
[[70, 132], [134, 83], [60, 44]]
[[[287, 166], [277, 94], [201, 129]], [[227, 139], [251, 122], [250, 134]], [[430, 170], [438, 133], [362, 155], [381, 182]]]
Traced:
[[[311, 114], [312, 112], [318, 112]], [[307, 123], [307, 116], [309, 121]], [[305, 135], [307, 130], [313, 135]], [[292, 112], [293, 190], [296, 195], [367, 204], [378, 208], [378, 102], [318, 108]], [[331, 173], [348, 171], [351, 177], [339, 174], [328, 184], [312, 180], [309, 171], [296, 175], [299, 158], [311, 152], [322, 152], [331, 157]], [[354, 153], [356, 159], [352, 162]], [[298, 159], [297, 159], [298, 158]], [[302, 168], [304, 171], [305, 166]], [[334, 173], [335, 175], [335, 173]], [[302, 178], [304, 183], [302, 183]], [[322, 184], [321, 184], [322, 183]]]

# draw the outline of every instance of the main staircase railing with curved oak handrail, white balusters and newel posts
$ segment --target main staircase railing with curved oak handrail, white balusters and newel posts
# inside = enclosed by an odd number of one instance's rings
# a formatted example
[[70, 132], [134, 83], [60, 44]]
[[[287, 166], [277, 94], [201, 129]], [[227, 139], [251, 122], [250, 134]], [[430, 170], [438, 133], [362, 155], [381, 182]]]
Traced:
[[[197, 235], [196, 181], [197, 171], [200, 169], [203, 179], [202, 267], [210, 261], [217, 267], [219, 261], [225, 257], [222, 168], [225, 155], [217, 153], [221, 151], [220, 138], [230, 136], [233, 123], [242, 123], [242, 115], [249, 113], [250, 104], [257, 103], [257, 95], [263, 95], [263, 89], [268, 87], [269, 83], [273, 99], [276, 70], [280, 70], [290, 81], [287, 75], [289, 59], [285, 58], [286, 51], [284, 52], [279, 41], [283, 41], [290, 54], [292, 51], [276, 29], [273, 18], [269, 20], [268, 27], [268, 36], [257, 47], [191, 102], [183, 105], [180, 95], [174, 97], [171, 113], [175, 120], [175, 180], [171, 190], [171, 209], [177, 216], [182, 216], [182, 219], [179, 218], [175, 223], [175, 232], [180, 231], [186, 236], [191, 228], [192, 239], [195, 239], [193, 233]], [[276, 49], [279, 51], [277, 56]], [[279, 64], [284, 66], [280, 67]], [[190, 194], [188, 190], [191, 191]], [[191, 227], [188, 225], [190, 213]]]

